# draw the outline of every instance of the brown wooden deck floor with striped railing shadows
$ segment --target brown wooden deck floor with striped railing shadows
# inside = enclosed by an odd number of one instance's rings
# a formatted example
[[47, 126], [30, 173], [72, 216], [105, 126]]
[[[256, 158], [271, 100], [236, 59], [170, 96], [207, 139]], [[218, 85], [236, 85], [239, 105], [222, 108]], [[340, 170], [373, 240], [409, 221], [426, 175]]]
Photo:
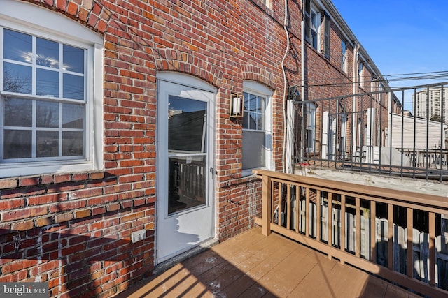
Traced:
[[253, 228], [116, 297], [418, 297]]

